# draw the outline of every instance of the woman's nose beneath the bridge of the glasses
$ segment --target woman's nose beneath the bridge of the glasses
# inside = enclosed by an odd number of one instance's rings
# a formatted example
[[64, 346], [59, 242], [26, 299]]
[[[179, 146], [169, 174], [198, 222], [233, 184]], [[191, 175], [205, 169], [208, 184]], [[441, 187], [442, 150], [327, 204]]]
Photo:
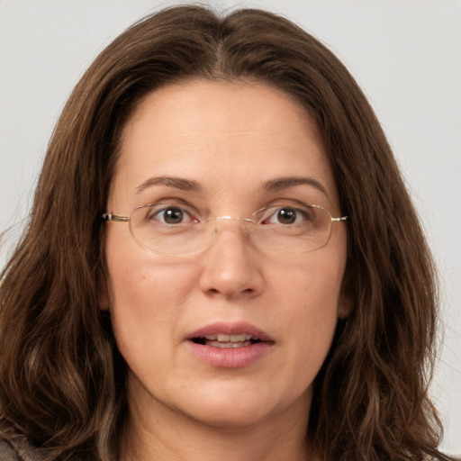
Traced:
[[[239, 221], [217, 221], [212, 246], [204, 251], [200, 288], [226, 298], [256, 296], [264, 287], [259, 252]], [[259, 258], [258, 258], [259, 257]]]

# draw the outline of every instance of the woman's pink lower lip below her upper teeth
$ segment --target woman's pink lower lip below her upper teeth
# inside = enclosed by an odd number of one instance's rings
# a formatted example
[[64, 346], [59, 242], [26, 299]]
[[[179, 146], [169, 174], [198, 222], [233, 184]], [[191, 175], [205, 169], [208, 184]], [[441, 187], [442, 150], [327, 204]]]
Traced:
[[241, 368], [249, 366], [264, 357], [274, 345], [272, 342], [263, 341], [251, 346], [241, 348], [215, 348], [203, 344], [188, 342], [192, 353], [205, 364], [220, 368]]

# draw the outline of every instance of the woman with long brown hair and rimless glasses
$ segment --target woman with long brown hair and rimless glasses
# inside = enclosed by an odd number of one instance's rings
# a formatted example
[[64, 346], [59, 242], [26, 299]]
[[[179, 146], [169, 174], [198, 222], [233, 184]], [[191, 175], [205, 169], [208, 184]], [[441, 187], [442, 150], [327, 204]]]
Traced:
[[276, 15], [171, 8], [101, 53], [0, 296], [10, 458], [449, 459], [416, 213], [348, 71]]

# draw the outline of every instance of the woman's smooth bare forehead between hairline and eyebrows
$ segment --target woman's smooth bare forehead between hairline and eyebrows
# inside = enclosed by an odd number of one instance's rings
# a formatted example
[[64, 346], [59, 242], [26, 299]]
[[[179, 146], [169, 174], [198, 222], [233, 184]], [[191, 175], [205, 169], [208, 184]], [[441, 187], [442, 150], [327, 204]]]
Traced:
[[336, 200], [330, 163], [309, 113], [272, 86], [193, 80], [147, 95], [122, 133], [115, 194], [152, 176], [249, 194], [277, 177], [309, 176]]

